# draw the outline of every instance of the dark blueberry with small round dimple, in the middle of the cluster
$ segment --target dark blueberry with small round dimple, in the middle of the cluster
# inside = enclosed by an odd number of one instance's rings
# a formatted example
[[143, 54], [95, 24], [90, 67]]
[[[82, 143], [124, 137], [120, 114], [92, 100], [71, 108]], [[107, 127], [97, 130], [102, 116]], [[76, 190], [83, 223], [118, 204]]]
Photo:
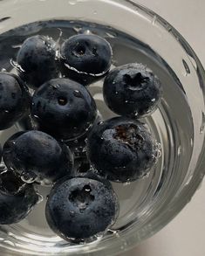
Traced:
[[66, 141], [84, 135], [92, 127], [97, 109], [85, 86], [56, 79], [46, 82], [34, 93], [31, 113], [41, 130]]

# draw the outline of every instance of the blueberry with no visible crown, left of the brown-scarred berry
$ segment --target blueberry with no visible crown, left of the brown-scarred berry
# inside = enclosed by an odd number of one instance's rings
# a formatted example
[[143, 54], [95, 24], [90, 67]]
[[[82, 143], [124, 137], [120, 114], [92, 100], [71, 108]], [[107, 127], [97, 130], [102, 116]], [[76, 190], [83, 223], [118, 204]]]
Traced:
[[12, 136], [3, 146], [3, 161], [7, 168], [24, 181], [55, 182], [72, 172], [72, 154], [64, 144], [40, 131]]

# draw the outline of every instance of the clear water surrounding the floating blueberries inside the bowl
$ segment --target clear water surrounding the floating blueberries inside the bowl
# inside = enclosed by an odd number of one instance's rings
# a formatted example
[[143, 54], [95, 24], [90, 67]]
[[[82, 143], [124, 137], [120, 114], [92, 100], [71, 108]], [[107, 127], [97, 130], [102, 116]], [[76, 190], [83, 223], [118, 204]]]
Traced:
[[[93, 33], [106, 38], [113, 47], [113, 66], [132, 62], [143, 63], [157, 74], [163, 86], [160, 107], [144, 120], [152, 129], [157, 142], [161, 143], [161, 157], [158, 163], [149, 176], [141, 180], [133, 183], [113, 183], [113, 188], [120, 199], [120, 217], [112, 230], [118, 233], [126, 229], [133, 221], [139, 222], [139, 226], [143, 225], [143, 218], [146, 218], [147, 212], [154, 209], [154, 200], [169, 187], [172, 187], [172, 190], [174, 186], [178, 188], [184, 180], [188, 170], [188, 163], [186, 163], [186, 159], [183, 159], [185, 157], [184, 150], [186, 149], [186, 157], [191, 156], [193, 150], [192, 118], [181, 82], [174, 75], [170, 66], [167, 66], [167, 63], [156, 52], [137, 38], [99, 24], [53, 20], [28, 24], [8, 31], [0, 35], [0, 70], [16, 73], [12, 60], [15, 61], [17, 51], [25, 38], [42, 34], [62, 43], [66, 38], [77, 33]], [[188, 65], [185, 62], [184, 73], [187, 76], [189, 75], [188, 70]], [[102, 84], [103, 81], [98, 81], [89, 86], [89, 90], [96, 100], [103, 119], [107, 119], [113, 117], [114, 114], [104, 103]], [[185, 129], [186, 133], [184, 133]], [[1, 132], [0, 142], [5, 142], [10, 135], [18, 130], [19, 128], [16, 126]], [[38, 247], [46, 252], [50, 246], [56, 246], [56, 248], [67, 246], [65, 241], [51, 232], [44, 218], [44, 205], [50, 190], [50, 187], [38, 186], [38, 191], [43, 195], [44, 200], [34, 208], [28, 218], [17, 225], [1, 227], [2, 232], [6, 232], [10, 237], [10, 239], [8, 237], [5, 239], [5, 244], [9, 242], [24, 248], [25, 242], [28, 242], [34, 246], [37, 252]], [[112, 232], [108, 232], [107, 236], [110, 235], [109, 233]], [[5, 235], [2, 234], [0, 237], [3, 238]]]

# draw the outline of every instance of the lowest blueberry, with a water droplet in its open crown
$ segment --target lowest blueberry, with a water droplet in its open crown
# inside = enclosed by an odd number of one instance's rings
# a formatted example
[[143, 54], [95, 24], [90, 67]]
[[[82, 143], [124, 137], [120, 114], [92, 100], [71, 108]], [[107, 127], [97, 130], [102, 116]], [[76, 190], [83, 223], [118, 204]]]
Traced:
[[118, 201], [111, 186], [77, 177], [58, 182], [51, 190], [45, 216], [53, 232], [66, 240], [89, 241], [113, 225]]

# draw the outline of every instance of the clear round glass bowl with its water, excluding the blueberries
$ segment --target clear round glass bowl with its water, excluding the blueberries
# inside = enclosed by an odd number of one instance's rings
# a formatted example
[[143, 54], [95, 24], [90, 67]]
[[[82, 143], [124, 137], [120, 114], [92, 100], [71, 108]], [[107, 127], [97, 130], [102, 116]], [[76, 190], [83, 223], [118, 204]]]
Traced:
[[[49, 22], [38, 23], [46, 20]], [[52, 24], [59, 35], [58, 26], [68, 24], [73, 33], [82, 28], [84, 32], [101, 31], [113, 46], [113, 66], [142, 62], [159, 76], [163, 86], [160, 107], [144, 120], [159, 142], [159, 161], [150, 175], [139, 181], [113, 183], [120, 198], [120, 217], [103, 239], [71, 245], [55, 236], [44, 220], [44, 199], [21, 223], [0, 226], [1, 252], [98, 256], [125, 252], [167, 225], [202, 182], [205, 73], [195, 52], [174, 27], [131, 0], [0, 1], [0, 69], [14, 72], [12, 61], [5, 54], [13, 51], [15, 55], [13, 49], [17, 45], [10, 45], [12, 40], [19, 35], [23, 40], [32, 33], [43, 32], [42, 28], [49, 31]], [[17, 27], [20, 29], [14, 30]], [[2, 45], [5, 38], [10, 41]], [[97, 82], [89, 89], [106, 119], [113, 113], [103, 102], [101, 86], [102, 82]], [[3, 143], [18, 129], [15, 126], [1, 132], [0, 141]], [[38, 189], [44, 196], [50, 190]]]

